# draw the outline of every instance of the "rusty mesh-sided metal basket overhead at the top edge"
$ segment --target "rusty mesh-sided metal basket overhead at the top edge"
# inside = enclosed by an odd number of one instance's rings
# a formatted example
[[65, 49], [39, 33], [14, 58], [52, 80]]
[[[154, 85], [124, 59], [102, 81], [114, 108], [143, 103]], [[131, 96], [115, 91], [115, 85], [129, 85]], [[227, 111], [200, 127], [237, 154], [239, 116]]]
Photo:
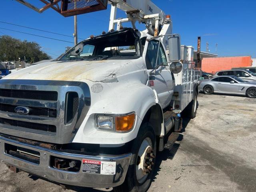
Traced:
[[107, 9], [108, 0], [62, 0], [61, 14], [64, 17]]

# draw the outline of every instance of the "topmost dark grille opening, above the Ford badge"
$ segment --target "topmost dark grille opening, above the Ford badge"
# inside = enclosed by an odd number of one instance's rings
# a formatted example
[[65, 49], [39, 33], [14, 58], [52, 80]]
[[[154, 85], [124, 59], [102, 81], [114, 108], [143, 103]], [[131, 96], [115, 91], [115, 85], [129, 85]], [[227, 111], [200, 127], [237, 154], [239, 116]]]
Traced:
[[58, 92], [56, 91], [0, 89], [0, 96], [12, 97], [12, 98], [35, 99], [35, 100], [47, 100], [47, 101], [58, 100]]

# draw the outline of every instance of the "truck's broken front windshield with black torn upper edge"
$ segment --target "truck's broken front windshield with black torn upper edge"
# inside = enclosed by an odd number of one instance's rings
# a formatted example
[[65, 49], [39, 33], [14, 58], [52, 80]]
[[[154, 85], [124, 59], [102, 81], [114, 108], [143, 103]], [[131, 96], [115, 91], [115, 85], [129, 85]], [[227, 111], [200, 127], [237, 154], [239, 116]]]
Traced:
[[136, 59], [140, 56], [139, 37], [129, 29], [84, 40], [66, 52], [59, 61]]

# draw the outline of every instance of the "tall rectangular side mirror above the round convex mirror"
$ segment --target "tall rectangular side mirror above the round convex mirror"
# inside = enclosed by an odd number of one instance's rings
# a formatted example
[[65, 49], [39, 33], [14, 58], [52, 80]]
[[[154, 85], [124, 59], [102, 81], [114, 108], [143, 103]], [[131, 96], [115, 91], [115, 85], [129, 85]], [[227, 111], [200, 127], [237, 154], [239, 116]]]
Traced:
[[169, 59], [170, 62], [179, 62], [181, 60], [180, 35], [172, 34], [169, 41]]

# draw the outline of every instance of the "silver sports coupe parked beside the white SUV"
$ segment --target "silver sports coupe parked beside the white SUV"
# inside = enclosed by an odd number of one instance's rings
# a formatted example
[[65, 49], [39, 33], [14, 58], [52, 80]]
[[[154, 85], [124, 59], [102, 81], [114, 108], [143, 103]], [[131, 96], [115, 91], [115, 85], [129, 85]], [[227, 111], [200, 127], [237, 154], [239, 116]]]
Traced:
[[210, 80], [201, 80], [199, 90], [205, 94], [238, 94], [256, 98], [256, 82], [246, 82], [236, 76], [218, 76]]

